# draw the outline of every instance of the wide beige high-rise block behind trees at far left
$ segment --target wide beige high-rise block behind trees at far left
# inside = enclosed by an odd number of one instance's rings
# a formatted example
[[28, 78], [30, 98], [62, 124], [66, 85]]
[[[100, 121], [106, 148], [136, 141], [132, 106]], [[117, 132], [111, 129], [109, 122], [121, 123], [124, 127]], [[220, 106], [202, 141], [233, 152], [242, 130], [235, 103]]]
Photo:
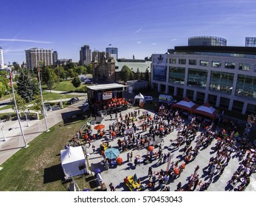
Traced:
[[44, 65], [52, 65], [52, 50], [31, 48], [25, 50], [27, 68], [33, 69], [38, 67], [42, 62]]

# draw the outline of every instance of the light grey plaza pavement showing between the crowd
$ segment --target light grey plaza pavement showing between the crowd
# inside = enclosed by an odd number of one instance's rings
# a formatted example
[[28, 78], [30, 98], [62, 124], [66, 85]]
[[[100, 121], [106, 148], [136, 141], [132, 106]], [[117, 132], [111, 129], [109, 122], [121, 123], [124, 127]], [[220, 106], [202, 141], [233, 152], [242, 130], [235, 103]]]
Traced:
[[[138, 107], [129, 108], [127, 111], [122, 111], [122, 116], [125, 116], [125, 113], [131, 113], [134, 112], [134, 110], [138, 110]], [[139, 109], [140, 113], [142, 113], [143, 109]], [[154, 116], [154, 113], [148, 112], [151, 116]], [[120, 113], [118, 113], [118, 116]], [[112, 115], [114, 116], [114, 115]], [[133, 152], [133, 155], [139, 155], [139, 157], [146, 157], [148, 155], [148, 150], [144, 147], [140, 149], [129, 149], [128, 151], [121, 152], [120, 157], [122, 157], [123, 163], [120, 166], [113, 166], [110, 167], [108, 170], [105, 170], [104, 167], [104, 160], [103, 157], [100, 155], [100, 144], [108, 141], [108, 143], [111, 145], [111, 147], [118, 148], [117, 140], [119, 138], [114, 139], [114, 141], [109, 140], [109, 133], [108, 133], [108, 126], [109, 124], [113, 124], [114, 118], [111, 120], [110, 116], [105, 116], [103, 118], [103, 121], [101, 124], [105, 125], [105, 136], [103, 138], [98, 139], [97, 141], [91, 142], [91, 146], [87, 149], [87, 152], [89, 153], [89, 163], [91, 164], [91, 171], [94, 171], [96, 168], [100, 168], [101, 171], [101, 177], [103, 178], [103, 182], [107, 185], [108, 191], [110, 191], [110, 188], [108, 185], [112, 182], [115, 186], [117, 191], [128, 191], [127, 186], [124, 183], [124, 178], [136, 174], [136, 177], [138, 177], [141, 180], [141, 183], [143, 185], [148, 185], [148, 168], [152, 166], [153, 172], [160, 171], [163, 169], [164, 171], [167, 170], [167, 163], [158, 163], [157, 160], [153, 160], [152, 163], [141, 163], [138, 164], [136, 167], [134, 166], [134, 157], [132, 161], [127, 161], [127, 153]], [[146, 132], [142, 132], [142, 127], [140, 125], [142, 124], [142, 121], [135, 121], [137, 126], [137, 133], [140, 133], [141, 135], [145, 135], [148, 133], [148, 130]], [[93, 129], [94, 125], [92, 125]], [[93, 129], [93, 133], [97, 133], [97, 130]], [[197, 133], [199, 135], [200, 132]], [[171, 161], [174, 163], [179, 160], [179, 166], [181, 163], [184, 162], [184, 158], [182, 157], [184, 145], [180, 146], [179, 148], [175, 148], [174, 146], [171, 146], [170, 140], [175, 140], [177, 138], [177, 131], [176, 129], [171, 132], [169, 135], [163, 138], [163, 146], [162, 146], [162, 153], [167, 154], [170, 152], [171, 156], [173, 157]], [[123, 138], [120, 137], [122, 140]], [[196, 141], [196, 139], [195, 139]], [[191, 143], [191, 146], [195, 146], [196, 142], [193, 141]], [[199, 153], [196, 156], [196, 159], [192, 162], [188, 163], [186, 165], [186, 168], [184, 171], [182, 171], [180, 177], [176, 178], [175, 180], [169, 180], [167, 183], [167, 186], [170, 187], [170, 191], [175, 191], [177, 188], [177, 184], [181, 182], [181, 185], [184, 186], [188, 182], [188, 178], [194, 173], [196, 166], [199, 166], [198, 174], [199, 174], [199, 181], [202, 180], [202, 182], [208, 182], [209, 176], [207, 175], [207, 169], [205, 168], [210, 160], [210, 157], [215, 157], [216, 152], [213, 151], [213, 148], [215, 146], [217, 140], [212, 141], [210, 146], [207, 146], [206, 149], [199, 149]], [[92, 145], [96, 147], [96, 152], [92, 151]], [[159, 151], [158, 148], [155, 149], [156, 152]], [[234, 154], [232, 154], [232, 158], [229, 160], [228, 166], [225, 167], [223, 174], [221, 174], [220, 177], [218, 175], [214, 176], [212, 178], [212, 182], [210, 183], [209, 188], [207, 191], [234, 191], [234, 188], [229, 187], [227, 185], [227, 182], [231, 179], [232, 174], [237, 170], [239, 163], [241, 160], [238, 160], [238, 157], [234, 157]], [[256, 181], [255, 181], [256, 175], [255, 173], [252, 174], [250, 183], [246, 187], [245, 191], [256, 191]], [[240, 185], [240, 182], [238, 182], [237, 185], [235, 185], [235, 188], [238, 188], [238, 185]], [[196, 190], [198, 187], [196, 188]], [[148, 190], [148, 189], [147, 189]], [[236, 190], [236, 189], [235, 189]], [[159, 185], [156, 184], [153, 191], [160, 191]]]

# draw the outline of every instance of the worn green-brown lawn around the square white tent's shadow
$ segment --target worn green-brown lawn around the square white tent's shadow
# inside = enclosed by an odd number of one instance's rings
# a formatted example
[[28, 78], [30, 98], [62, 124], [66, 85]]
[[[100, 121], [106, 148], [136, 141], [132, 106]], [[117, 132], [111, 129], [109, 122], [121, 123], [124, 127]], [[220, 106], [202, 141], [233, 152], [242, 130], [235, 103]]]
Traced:
[[[60, 165], [60, 150], [84, 124], [77, 120], [51, 127], [1, 165], [0, 191], [67, 191]], [[80, 188], [89, 188], [86, 176], [76, 177]]]

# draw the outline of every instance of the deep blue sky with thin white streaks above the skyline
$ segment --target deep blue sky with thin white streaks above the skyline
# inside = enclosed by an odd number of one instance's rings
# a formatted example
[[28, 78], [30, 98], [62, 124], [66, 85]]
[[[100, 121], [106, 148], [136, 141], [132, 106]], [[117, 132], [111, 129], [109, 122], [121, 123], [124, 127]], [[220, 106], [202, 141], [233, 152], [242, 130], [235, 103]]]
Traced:
[[78, 61], [81, 46], [111, 44], [119, 57], [144, 59], [197, 35], [226, 38], [228, 46], [256, 37], [255, 0], [1, 0], [0, 8], [4, 63], [22, 63], [32, 47]]

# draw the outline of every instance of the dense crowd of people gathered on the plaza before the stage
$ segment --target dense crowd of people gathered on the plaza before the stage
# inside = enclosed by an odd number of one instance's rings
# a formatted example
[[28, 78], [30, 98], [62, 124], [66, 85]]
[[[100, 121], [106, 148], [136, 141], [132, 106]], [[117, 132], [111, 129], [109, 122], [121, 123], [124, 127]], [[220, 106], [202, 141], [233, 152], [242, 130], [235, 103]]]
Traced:
[[[127, 163], [132, 162], [135, 168], [138, 160], [142, 158], [133, 156], [132, 151], [147, 149], [142, 163], [145, 165], [154, 163], [156, 171], [149, 166], [148, 178], [141, 182], [143, 189], [170, 191], [170, 183], [179, 179], [186, 166], [196, 160], [201, 150], [207, 149], [212, 141], [215, 141], [215, 146], [211, 149], [211, 154], [215, 156], [210, 157], [208, 165], [201, 168], [203, 175], [199, 176], [200, 166], [197, 166], [194, 173], [187, 178], [187, 182], [183, 182], [184, 185], [179, 182], [176, 191], [195, 191], [196, 189], [207, 191], [213, 180], [217, 181], [221, 177], [229, 160], [234, 157], [238, 157], [240, 165], [231, 180], [226, 182], [227, 189], [244, 191], [249, 185], [251, 174], [255, 171], [255, 146], [241, 141], [235, 125], [225, 130], [223, 127], [218, 127], [215, 121], [203, 122], [197, 117], [185, 120], [181, 110], [167, 109], [159, 110], [159, 113], [154, 114], [137, 109], [129, 113], [114, 113], [109, 117], [113, 123], [109, 124], [106, 131], [97, 131], [97, 134], [93, 134], [88, 129], [86, 130], [87, 138], [84, 137], [84, 141], [91, 143], [100, 138], [105, 138], [105, 141], [117, 139], [118, 149], [120, 152], [127, 152]], [[170, 139], [167, 150], [162, 148], [167, 140], [166, 137], [174, 131], [177, 134], [176, 138]], [[112, 132], [116, 135], [111, 135]], [[78, 136], [81, 135], [76, 135]], [[150, 143], [155, 142], [156, 139], [161, 140], [154, 145], [156, 148], [148, 149]], [[176, 150], [180, 151], [179, 160], [173, 161], [172, 155]], [[102, 151], [103, 148], [100, 148], [101, 154]], [[167, 163], [165, 170], [159, 167], [164, 163]], [[158, 167], [159, 170], [157, 170]], [[204, 180], [203, 177], [205, 177]]]

